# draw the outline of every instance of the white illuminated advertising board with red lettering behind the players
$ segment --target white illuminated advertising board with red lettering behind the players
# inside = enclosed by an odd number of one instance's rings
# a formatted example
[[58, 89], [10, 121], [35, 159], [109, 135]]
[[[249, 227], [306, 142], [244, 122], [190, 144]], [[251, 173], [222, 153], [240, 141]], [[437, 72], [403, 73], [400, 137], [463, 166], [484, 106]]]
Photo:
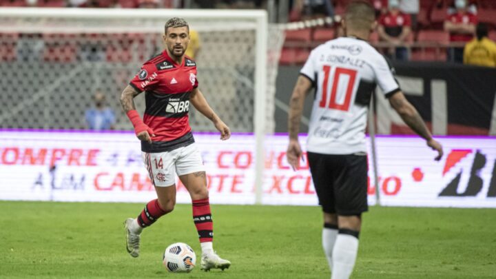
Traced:
[[[253, 134], [197, 133], [212, 203], [254, 204]], [[262, 204], [317, 205], [308, 160], [287, 164], [287, 135], [267, 136]], [[300, 136], [302, 146], [306, 136]], [[376, 138], [379, 185], [369, 203], [415, 207], [496, 207], [496, 138], [442, 136], [445, 156], [417, 136]], [[155, 197], [132, 132], [0, 130], [0, 200], [144, 203]], [[369, 164], [371, 165], [371, 164]], [[178, 183], [178, 203], [189, 194]]]

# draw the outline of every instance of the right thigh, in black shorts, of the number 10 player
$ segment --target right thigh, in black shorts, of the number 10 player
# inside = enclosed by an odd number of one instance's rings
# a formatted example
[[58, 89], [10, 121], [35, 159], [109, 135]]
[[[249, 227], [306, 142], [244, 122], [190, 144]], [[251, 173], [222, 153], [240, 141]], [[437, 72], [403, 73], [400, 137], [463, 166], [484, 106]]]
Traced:
[[336, 211], [339, 216], [360, 215], [369, 209], [366, 156], [339, 155], [335, 160], [335, 165], [339, 165], [334, 180]]

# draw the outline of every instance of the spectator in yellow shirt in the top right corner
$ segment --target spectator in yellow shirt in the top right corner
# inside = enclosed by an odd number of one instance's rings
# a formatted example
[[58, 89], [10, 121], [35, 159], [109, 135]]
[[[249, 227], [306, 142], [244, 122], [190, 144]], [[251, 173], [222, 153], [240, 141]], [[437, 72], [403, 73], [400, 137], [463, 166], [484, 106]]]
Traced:
[[477, 24], [475, 35], [465, 45], [464, 64], [496, 68], [496, 43], [488, 39], [488, 26]]

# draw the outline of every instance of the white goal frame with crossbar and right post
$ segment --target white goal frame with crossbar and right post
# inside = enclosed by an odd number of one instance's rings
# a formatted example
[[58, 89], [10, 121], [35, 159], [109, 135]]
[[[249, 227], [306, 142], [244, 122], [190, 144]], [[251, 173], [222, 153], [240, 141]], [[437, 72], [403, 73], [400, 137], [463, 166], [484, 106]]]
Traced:
[[[194, 9], [97, 9], [97, 8], [0, 8], [0, 18], [30, 18], [39, 19], [169, 19], [183, 17], [184, 19], [234, 19], [247, 20], [254, 23], [256, 32], [256, 61], [255, 61], [255, 96], [254, 96], [254, 136], [255, 150], [255, 200], [260, 204], [262, 200], [262, 174], [264, 171], [264, 139], [266, 122], [266, 94], [267, 94], [267, 36], [268, 22], [265, 10], [194, 10]], [[158, 26], [162, 28], [161, 26]], [[0, 32], [12, 32], [0, 28]], [[18, 30], [15, 30], [18, 31]]]

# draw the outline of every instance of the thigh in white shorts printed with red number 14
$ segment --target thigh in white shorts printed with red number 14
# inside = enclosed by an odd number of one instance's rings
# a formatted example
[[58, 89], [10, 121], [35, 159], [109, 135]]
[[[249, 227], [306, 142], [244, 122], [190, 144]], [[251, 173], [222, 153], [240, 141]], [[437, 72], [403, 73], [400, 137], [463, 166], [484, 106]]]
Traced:
[[152, 185], [155, 187], [171, 187], [176, 184], [176, 154], [172, 152], [142, 152], [143, 162]]

